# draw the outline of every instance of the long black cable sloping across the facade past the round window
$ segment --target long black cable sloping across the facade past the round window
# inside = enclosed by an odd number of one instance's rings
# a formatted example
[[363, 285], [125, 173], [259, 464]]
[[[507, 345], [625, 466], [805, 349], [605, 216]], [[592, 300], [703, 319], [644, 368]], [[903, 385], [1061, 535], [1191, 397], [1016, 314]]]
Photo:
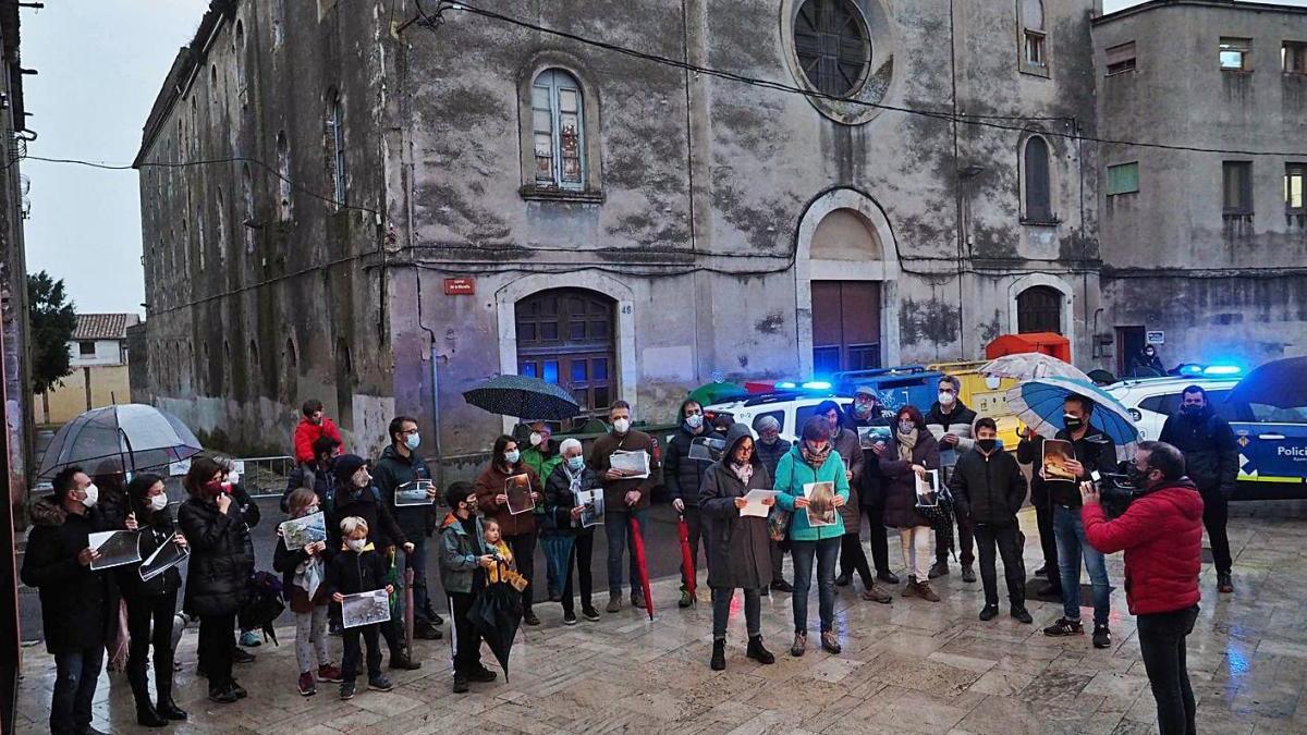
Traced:
[[749, 85], [749, 86], [757, 86], [757, 88], [762, 88], [762, 89], [770, 89], [770, 90], [774, 90], [774, 92], [783, 92], [783, 93], [787, 93], [787, 94], [801, 94], [801, 95], [808, 97], [808, 98], [826, 99], [826, 101], [830, 101], [830, 102], [839, 102], [842, 105], [855, 105], [855, 106], [861, 106], [861, 107], [873, 107], [873, 109], [877, 109], [877, 110], [886, 110], [886, 111], [891, 111], [891, 112], [902, 112], [902, 114], [906, 114], [906, 115], [916, 115], [916, 116], [921, 116], [921, 118], [931, 118], [931, 119], [937, 119], [937, 120], [944, 120], [944, 122], [950, 122], [950, 123], [957, 123], [957, 124], [975, 126], [975, 127], [984, 127], [984, 128], [993, 128], [993, 129], [1002, 129], [1002, 131], [1012, 131], [1012, 132], [1022, 132], [1022, 133], [1039, 133], [1039, 135], [1047, 135], [1047, 136], [1053, 136], [1053, 137], [1063, 137], [1063, 139], [1074, 140], [1074, 141], [1098, 143], [1098, 144], [1104, 144], [1104, 145], [1132, 145], [1132, 146], [1137, 146], [1137, 148], [1154, 148], [1154, 149], [1162, 149], [1162, 150], [1179, 150], [1179, 152], [1188, 152], [1188, 153], [1222, 153], [1222, 154], [1230, 154], [1230, 156], [1274, 156], [1274, 157], [1283, 157], [1283, 158], [1307, 157], [1307, 152], [1302, 152], [1302, 150], [1248, 150], [1248, 149], [1240, 149], [1240, 148], [1214, 148], [1214, 146], [1184, 145], [1184, 144], [1172, 144], [1172, 143], [1145, 143], [1145, 141], [1138, 141], [1138, 140], [1125, 140], [1125, 139], [1112, 139], [1112, 137], [1099, 137], [1099, 136], [1084, 135], [1084, 133], [1080, 132], [1078, 126], [1073, 126], [1073, 129], [1070, 132], [1061, 132], [1061, 131], [1048, 131], [1048, 129], [1036, 128], [1036, 127], [1029, 127], [1029, 126], [1016, 126], [1016, 124], [1010, 124], [1010, 123], [996, 122], [996, 120], [1026, 120], [1026, 122], [1033, 122], [1033, 120], [1067, 120], [1067, 122], [1074, 123], [1076, 119], [1070, 118], [1070, 116], [1068, 116], [1068, 118], [1035, 118], [1035, 116], [1019, 116], [1019, 115], [1012, 115], [1012, 116], [1005, 116], [1005, 115], [967, 115], [965, 112], [954, 114], [951, 110], [924, 110], [924, 109], [916, 109], [916, 107], [904, 107], [904, 106], [899, 106], [899, 105], [885, 105], [882, 102], [870, 102], [870, 101], [867, 101], [867, 99], [844, 98], [844, 97], [838, 97], [838, 95], [834, 95], [834, 94], [826, 94], [823, 92], [818, 92], [818, 90], [813, 90], [813, 89], [805, 89], [805, 88], [801, 88], [801, 86], [797, 86], [797, 85], [792, 85], [792, 84], [779, 82], [779, 81], [775, 81], [775, 80], [767, 80], [767, 78], [761, 78], [761, 77], [752, 77], [752, 76], [741, 75], [741, 73], [737, 73], [737, 72], [728, 72], [728, 71], [724, 71], [724, 69], [716, 69], [716, 68], [712, 68], [712, 67], [704, 67], [704, 65], [701, 65], [701, 64], [694, 64], [694, 63], [690, 63], [690, 61], [684, 60], [684, 59], [673, 59], [673, 58], [669, 58], [669, 56], [661, 56], [661, 55], [657, 55], [657, 54], [650, 54], [647, 51], [639, 51], [637, 48], [630, 48], [630, 47], [626, 47], [626, 46], [620, 46], [617, 43], [610, 43], [610, 42], [606, 42], [606, 41], [600, 41], [600, 39], [596, 39], [596, 38], [591, 38], [591, 37], [586, 37], [586, 35], [580, 35], [580, 34], [575, 34], [575, 33], [569, 33], [569, 31], [558, 30], [558, 29], [549, 27], [549, 26], [544, 26], [544, 25], [540, 25], [540, 24], [536, 24], [536, 22], [532, 22], [532, 21], [527, 21], [527, 20], [523, 20], [523, 18], [516, 18], [516, 17], [507, 16], [505, 13], [499, 13], [499, 12], [495, 12], [495, 10], [488, 10], [488, 9], [480, 8], [477, 5], [463, 3], [461, 0], [460, 1], [439, 0], [439, 4], [437, 5], [435, 10], [431, 12], [431, 13], [423, 10], [422, 5], [421, 5], [421, 0], [418, 0], [417, 1], [417, 12], [418, 12], [418, 14], [414, 18], [412, 18], [410, 21], [405, 22], [401, 26], [401, 29], [405, 29], [409, 25], [417, 24], [417, 25], [425, 26], [425, 27], [430, 29], [433, 33], [435, 33], [444, 24], [444, 16], [443, 14], [444, 14], [446, 10], [457, 10], [457, 12], [471, 13], [471, 14], [474, 14], [474, 16], [480, 16], [480, 17], [484, 17], [484, 18], [494, 20], [494, 21], [503, 22], [503, 24], [507, 24], [507, 25], [511, 25], [511, 26], [516, 26], [516, 27], [520, 27], [520, 29], [524, 29], [524, 30], [532, 30], [532, 31], [536, 31], [536, 33], [542, 33], [542, 34], [546, 34], [546, 35], [552, 35], [552, 37], [555, 37], [555, 38], [562, 38], [562, 39], [572, 41], [572, 42], [576, 42], [576, 43], [582, 43], [582, 44], [591, 46], [591, 47], [595, 47], [595, 48], [601, 48], [601, 50], [610, 51], [610, 52], [614, 52], [614, 54], [622, 54], [625, 56], [631, 56], [634, 59], [640, 59], [640, 60], [655, 63], [655, 64], [663, 64], [663, 65], [673, 67], [673, 68], [682, 69], [682, 71], [690, 71], [690, 72], [694, 72], [694, 73], [698, 73], [698, 75], [704, 75], [704, 76], [716, 77], [716, 78], [721, 78], [721, 80], [727, 80], [727, 81], [733, 81], [733, 82], [737, 82], [737, 84], [745, 84], [745, 85]]

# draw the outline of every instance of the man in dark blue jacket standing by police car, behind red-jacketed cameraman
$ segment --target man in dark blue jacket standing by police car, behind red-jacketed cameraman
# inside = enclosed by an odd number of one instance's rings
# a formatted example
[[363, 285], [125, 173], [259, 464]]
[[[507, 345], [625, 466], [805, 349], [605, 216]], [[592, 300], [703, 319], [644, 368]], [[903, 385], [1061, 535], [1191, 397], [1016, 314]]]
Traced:
[[1234, 430], [1208, 403], [1208, 392], [1200, 386], [1184, 388], [1180, 412], [1162, 425], [1158, 441], [1184, 453], [1184, 473], [1202, 493], [1202, 524], [1212, 541], [1212, 560], [1217, 566], [1217, 590], [1234, 591], [1230, 578], [1230, 538], [1226, 535], [1230, 496], [1239, 477], [1239, 447]]

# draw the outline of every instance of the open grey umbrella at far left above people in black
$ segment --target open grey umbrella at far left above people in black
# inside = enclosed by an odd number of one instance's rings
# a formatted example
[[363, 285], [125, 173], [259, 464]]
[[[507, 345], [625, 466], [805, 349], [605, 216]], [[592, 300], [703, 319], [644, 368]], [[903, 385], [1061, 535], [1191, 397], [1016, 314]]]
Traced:
[[176, 416], [153, 405], [128, 403], [95, 408], [64, 424], [50, 439], [39, 477], [54, 477], [72, 464], [91, 475], [167, 467], [204, 451]]

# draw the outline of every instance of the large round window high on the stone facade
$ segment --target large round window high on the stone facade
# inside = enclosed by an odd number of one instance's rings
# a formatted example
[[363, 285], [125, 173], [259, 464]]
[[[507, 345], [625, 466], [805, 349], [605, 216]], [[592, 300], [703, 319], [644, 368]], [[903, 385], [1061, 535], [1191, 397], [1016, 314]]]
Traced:
[[805, 0], [795, 18], [795, 52], [818, 92], [852, 95], [867, 81], [872, 61], [861, 12], [851, 0]]

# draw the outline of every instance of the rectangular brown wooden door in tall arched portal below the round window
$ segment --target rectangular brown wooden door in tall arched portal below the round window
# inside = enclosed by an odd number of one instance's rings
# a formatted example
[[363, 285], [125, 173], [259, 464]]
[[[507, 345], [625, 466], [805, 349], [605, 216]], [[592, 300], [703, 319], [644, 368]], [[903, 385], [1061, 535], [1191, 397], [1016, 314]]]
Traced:
[[881, 366], [881, 284], [813, 281], [813, 374]]

